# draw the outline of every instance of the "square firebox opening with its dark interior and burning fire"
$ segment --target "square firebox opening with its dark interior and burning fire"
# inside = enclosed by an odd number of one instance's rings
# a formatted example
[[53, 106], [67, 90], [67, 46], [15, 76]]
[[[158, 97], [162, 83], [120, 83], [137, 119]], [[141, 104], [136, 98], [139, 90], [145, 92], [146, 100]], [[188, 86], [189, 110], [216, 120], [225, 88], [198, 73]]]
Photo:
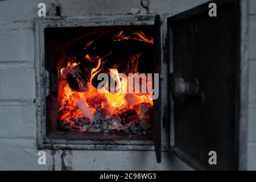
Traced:
[[[154, 73], [154, 27], [46, 28], [47, 136], [55, 139], [152, 139], [150, 93], [126, 93], [129, 73]], [[113, 79], [99, 93], [100, 73]], [[119, 76], [124, 73], [127, 78]], [[113, 77], [114, 76], [114, 77]], [[107, 82], [108, 82], [107, 81]], [[145, 81], [145, 80], [144, 80]], [[146, 83], [152, 84], [147, 78]]]

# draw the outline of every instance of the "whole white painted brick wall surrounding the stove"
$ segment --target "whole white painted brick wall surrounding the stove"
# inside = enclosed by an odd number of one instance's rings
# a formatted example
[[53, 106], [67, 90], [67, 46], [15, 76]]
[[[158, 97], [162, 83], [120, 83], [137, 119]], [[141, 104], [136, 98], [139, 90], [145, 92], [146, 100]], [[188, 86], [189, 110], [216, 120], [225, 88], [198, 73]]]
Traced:
[[[173, 15], [207, 0], [148, 0], [149, 13]], [[256, 1], [250, 1], [250, 89], [248, 167], [256, 169]], [[0, 1], [0, 170], [60, 170], [62, 161], [72, 169], [191, 169], [175, 156], [163, 152], [163, 163], [154, 151], [63, 151], [47, 152], [47, 165], [37, 164], [35, 126], [34, 23], [40, 0]], [[131, 9], [147, 13], [141, 0], [68, 1], [44, 0], [47, 14], [128, 14]], [[74, 6], [77, 8], [75, 9]]]

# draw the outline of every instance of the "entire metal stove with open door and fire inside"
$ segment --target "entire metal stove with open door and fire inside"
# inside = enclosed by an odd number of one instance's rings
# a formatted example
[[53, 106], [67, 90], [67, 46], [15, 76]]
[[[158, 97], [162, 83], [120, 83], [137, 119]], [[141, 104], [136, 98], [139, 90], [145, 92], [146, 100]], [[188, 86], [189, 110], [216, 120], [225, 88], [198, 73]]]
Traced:
[[158, 162], [168, 150], [196, 169], [245, 168], [246, 6], [216, 3], [217, 17], [207, 3], [167, 19], [36, 18], [38, 148], [155, 150]]

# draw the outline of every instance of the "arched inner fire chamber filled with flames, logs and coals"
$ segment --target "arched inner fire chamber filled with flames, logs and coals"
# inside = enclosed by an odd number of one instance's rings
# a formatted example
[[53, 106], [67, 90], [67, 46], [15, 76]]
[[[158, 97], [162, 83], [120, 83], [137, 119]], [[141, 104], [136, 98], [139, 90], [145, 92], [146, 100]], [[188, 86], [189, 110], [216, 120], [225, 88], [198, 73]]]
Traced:
[[[153, 38], [142, 31], [85, 35], [57, 64], [57, 120], [60, 131], [141, 136], [152, 130], [152, 93], [127, 93], [129, 73], [152, 73]], [[114, 88], [98, 92], [100, 73]], [[126, 75], [126, 78], [119, 76]], [[152, 78], [136, 80], [140, 90]], [[113, 92], [114, 90], [114, 92]]]

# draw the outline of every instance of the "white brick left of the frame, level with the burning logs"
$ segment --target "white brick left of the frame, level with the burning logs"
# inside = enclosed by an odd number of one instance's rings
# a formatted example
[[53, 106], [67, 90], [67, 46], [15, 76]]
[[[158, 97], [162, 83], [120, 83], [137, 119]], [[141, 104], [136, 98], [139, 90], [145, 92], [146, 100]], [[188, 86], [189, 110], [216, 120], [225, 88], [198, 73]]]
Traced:
[[0, 68], [0, 101], [35, 99], [35, 71], [30, 68]]

